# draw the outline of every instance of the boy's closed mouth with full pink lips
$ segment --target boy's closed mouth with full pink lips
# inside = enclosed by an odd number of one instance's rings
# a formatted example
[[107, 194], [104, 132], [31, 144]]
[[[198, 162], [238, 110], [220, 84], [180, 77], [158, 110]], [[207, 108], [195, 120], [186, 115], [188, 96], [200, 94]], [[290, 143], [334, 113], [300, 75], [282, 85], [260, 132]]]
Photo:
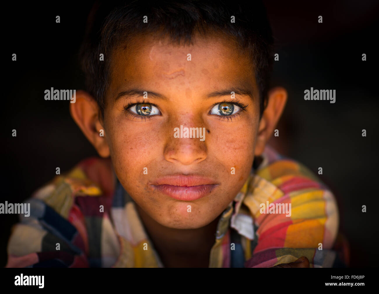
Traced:
[[174, 199], [193, 201], [210, 194], [218, 183], [197, 175], [172, 175], [158, 178], [150, 186]]

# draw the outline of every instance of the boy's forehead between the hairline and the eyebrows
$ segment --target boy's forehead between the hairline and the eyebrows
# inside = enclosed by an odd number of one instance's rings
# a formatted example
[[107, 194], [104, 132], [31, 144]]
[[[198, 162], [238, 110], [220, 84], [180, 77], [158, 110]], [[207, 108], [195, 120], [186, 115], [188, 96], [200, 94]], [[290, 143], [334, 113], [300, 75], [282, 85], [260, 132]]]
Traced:
[[108, 93], [125, 88], [161, 92], [219, 90], [250, 87], [254, 94], [254, 68], [248, 55], [232, 39], [195, 35], [192, 44], [174, 44], [168, 38], [138, 36], [113, 53]]

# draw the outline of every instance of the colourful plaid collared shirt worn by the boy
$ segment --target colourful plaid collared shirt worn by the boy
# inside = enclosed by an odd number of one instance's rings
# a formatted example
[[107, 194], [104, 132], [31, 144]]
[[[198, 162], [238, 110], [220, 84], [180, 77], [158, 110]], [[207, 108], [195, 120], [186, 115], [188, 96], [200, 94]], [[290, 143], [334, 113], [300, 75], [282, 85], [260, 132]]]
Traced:
[[[345, 266], [332, 192], [270, 147], [260, 161], [219, 219], [209, 267], [272, 267], [301, 256], [310, 267]], [[20, 214], [12, 229], [6, 266], [164, 267], [135, 202], [113, 179], [109, 159], [89, 158], [36, 191], [30, 216]], [[264, 213], [262, 203], [291, 204], [291, 215]]]

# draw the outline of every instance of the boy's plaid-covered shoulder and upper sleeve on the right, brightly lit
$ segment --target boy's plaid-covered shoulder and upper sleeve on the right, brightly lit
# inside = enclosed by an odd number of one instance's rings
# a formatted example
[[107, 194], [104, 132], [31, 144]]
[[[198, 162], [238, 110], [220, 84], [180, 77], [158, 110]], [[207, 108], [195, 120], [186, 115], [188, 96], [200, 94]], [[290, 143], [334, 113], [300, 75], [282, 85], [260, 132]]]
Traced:
[[333, 245], [338, 208], [330, 189], [307, 167], [267, 147], [244, 204], [255, 228], [247, 267], [271, 267], [306, 256], [310, 267], [338, 264]]

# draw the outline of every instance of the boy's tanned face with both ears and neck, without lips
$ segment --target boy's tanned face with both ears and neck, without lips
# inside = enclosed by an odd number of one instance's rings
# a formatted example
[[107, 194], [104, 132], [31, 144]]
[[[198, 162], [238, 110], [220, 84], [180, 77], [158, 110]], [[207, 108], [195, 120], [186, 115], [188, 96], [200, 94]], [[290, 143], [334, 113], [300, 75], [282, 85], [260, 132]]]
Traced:
[[[208, 266], [219, 216], [247, 180], [287, 100], [285, 89], [272, 89], [260, 119], [247, 56], [226, 38], [194, 40], [179, 46], [151, 36], [135, 39], [112, 56], [104, 117], [99, 119], [99, 106], [86, 92], [78, 91], [76, 103], [70, 104], [72, 117], [99, 155], [110, 156], [165, 266]], [[131, 89], [139, 94], [116, 99]], [[225, 101], [229, 108], [235, 103], [230, 116], [217, 111]], [[130, 103], [148, 103], [152, 112], [141, 116]], [[205, 140], [174, 138], [180, 125], [204, 127]], [[177, 200], [149, 186], [166, 175], [206, 176], [217, 187], [197, 200]]]

